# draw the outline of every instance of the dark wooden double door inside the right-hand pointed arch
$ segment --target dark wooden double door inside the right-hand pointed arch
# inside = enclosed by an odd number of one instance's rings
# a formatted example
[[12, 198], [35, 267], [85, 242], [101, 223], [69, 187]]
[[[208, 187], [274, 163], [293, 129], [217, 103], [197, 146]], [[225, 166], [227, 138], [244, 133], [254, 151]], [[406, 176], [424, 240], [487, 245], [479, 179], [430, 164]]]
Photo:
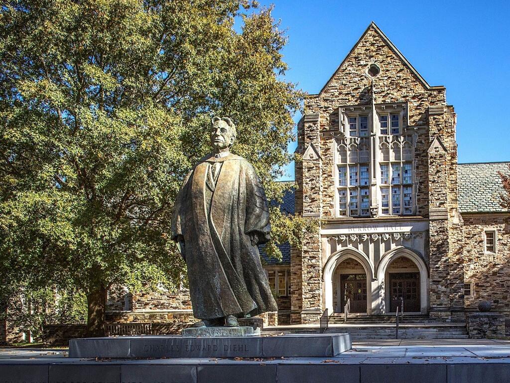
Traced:
[[404, 313], [421, 311], [420, 273], [390, 273], [390, 309], [404, 301]]

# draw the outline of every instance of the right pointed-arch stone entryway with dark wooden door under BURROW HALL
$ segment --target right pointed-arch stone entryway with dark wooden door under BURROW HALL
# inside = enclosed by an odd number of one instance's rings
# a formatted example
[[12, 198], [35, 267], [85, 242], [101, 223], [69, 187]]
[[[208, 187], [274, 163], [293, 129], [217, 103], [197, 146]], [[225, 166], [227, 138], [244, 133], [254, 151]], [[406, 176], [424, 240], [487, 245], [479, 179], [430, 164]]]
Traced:
[[377, 279], [382, 312], [394, 313], [403, 303], [406, 313], [426, 314], [428, 270], [414, 251], [399, 248], [385, 254], [377, 268]]

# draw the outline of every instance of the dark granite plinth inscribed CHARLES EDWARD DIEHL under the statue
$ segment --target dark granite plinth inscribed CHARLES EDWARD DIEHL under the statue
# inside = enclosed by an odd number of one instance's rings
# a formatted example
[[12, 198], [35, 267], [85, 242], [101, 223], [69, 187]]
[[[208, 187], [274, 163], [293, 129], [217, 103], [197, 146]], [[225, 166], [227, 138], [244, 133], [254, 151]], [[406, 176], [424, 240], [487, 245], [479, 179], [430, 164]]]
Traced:
[[135, 336], [69, 341], [71, 358], [235, 358], [335, 356], [352, 347], [349, 334], [249, 337]]

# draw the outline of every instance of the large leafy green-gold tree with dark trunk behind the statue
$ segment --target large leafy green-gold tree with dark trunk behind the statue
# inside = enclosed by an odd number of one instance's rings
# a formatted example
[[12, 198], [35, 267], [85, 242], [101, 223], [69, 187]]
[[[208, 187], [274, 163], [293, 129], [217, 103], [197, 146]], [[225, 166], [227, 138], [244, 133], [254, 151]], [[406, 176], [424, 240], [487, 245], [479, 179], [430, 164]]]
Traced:
[[[0, 274], [77, 286], [90, 336], [104, 333], [113, 284], [175, 285], [173, 201], [214, 114], [236, 122], [233, 152], [281, 198], [302, 94], [284, 78], [285, 34], [255, 3], [3, 3]], [[271, 221], [274, 256], [312, 227], [275, 209]]]

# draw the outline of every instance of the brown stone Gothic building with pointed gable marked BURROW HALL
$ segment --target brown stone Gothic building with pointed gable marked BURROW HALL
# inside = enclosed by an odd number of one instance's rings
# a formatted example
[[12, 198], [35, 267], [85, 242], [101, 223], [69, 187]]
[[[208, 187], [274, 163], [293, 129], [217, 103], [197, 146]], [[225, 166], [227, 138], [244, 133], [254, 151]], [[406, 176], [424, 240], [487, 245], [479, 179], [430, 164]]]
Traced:
[[457, 165], [456, 114], [374, 24], [298, 124], [295, 211], [322, 220], [291, 249], [291, 323], [325, 308], [464, 321], [510, 310], [506, 163]]

